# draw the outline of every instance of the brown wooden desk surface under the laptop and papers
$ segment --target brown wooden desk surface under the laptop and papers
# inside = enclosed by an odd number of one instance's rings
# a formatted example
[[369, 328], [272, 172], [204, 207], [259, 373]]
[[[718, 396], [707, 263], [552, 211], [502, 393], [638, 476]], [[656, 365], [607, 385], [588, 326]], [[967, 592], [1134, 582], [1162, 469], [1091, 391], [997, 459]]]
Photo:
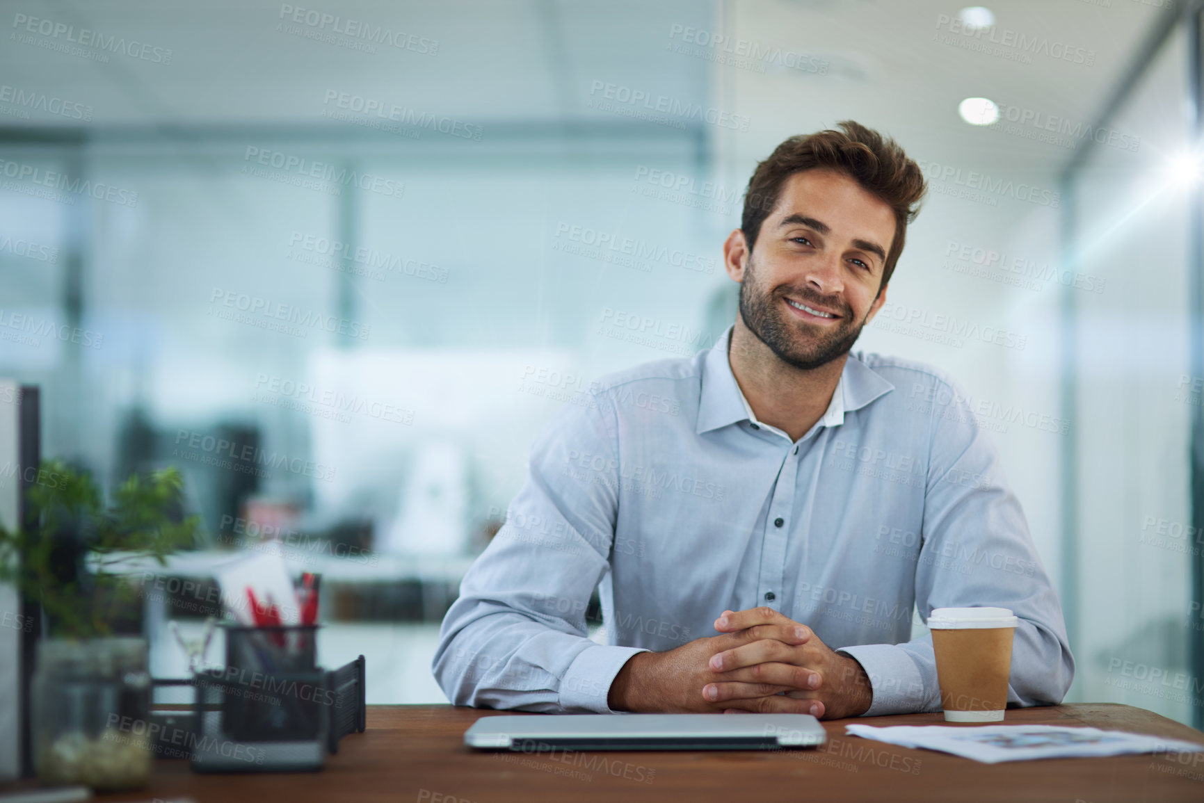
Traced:
[[[465, 730], [504, 712], [371, 705], [367, 732], [346, 737], [319, 773], [196, 775], [159, 761], [150, 785], [101, 801], [191, 797], [197, 803], [492, 803], [495, 801], [1204, 801], [1204, 758], [1153, 755], [982, 764], [844, 736], [824, 722], [819, 750], [726, 752], [474, 752]], [[867, 725], [943, 725], [940, 714], [862, 718]], [[1204, 733], [1129, 705], [1010, 709], [1007, 722], [1087, 725], [1204, 744]], [[1204, 756], [1204, 754], [1198, 754]]]

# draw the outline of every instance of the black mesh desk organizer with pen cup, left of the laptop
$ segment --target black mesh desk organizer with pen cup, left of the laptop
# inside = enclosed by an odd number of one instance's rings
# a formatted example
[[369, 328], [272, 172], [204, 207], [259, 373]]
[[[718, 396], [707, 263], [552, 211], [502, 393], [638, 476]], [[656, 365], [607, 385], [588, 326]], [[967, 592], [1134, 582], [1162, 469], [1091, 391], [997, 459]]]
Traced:
[[196, 772], [321, 769], [364, 731], [364, 656], [325, 672], [317, 625], [226, 628], [226, 666], [196, 685]]

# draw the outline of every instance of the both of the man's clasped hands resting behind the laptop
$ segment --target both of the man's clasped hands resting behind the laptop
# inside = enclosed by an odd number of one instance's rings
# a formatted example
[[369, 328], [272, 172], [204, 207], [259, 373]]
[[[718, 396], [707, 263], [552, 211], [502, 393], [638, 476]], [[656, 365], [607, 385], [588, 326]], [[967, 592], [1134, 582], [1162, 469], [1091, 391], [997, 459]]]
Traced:
[[720, 636], [667, 653], [637, 653], [610, 684], [608, 704], [631, 712], [755, 712], [858, 716], [873, 697], [856, 660], [810, 627], [767, 607], [725, 610]]

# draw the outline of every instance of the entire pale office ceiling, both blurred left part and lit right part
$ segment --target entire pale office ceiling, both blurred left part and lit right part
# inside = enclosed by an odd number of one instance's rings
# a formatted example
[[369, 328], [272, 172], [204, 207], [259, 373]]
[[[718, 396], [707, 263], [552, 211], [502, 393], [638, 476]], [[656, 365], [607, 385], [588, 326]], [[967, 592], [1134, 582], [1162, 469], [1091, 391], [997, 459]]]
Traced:
[[[277, 30], [285, 5], [437, 40], [438, 52], [378, 46], [370, 54], [293, 36]], [[170, 65], [116, 54], [100, 64], [6, 37], [2, 83], [92, 106], [90, 125], [99, 128], [320, 125], [327, 90], [480, 125], [614, 122], [588, 107], [597, 79], [749, 114], [733, 152], [763, 154], [785, 134], [852, 117], [925, 142], [932, 160], [981, 159], [986, 146], [1004, 166], [1050, 173], [1069, 152], [966, 125], [958, 101], [985, 95], [1092, 122], [1156, 18], [1169, 13], [1134, 0], [990, 5], [1001, 30], [1094, 51], [1094, 65], [1085, 66], [1041, 55], [1017, 64], [933, 41], [938, 16], [960, 8], [939, 0], [55, 0], [8, 7], [10, 31], [19, 30], [13, 20], [24, 13], [172, 51]], [[759, 75], [673, 53], [674, 25], [813, 54], [828, 63], [828, 75], [772, 65]], [[78, 124], [39, 112], [0, 118], [5, 126]]]

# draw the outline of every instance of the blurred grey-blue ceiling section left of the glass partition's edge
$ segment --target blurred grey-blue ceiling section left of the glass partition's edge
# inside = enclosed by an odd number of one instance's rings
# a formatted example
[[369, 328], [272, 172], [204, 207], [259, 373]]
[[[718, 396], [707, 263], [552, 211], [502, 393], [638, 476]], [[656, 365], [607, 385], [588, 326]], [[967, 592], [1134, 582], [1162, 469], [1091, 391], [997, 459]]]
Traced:
[[[707, 91], [697, 64], [665, 58], [662, 51], [669, 26], [707, 20], [709, 2], [288, 4], [437, 41], [435, 55], [380, 45], [366, 53], [279, 31], [284, 5], [24, 2], [16, 13], [171, 48], [172, 61], [114, 55], [98, 64], [10, 41], [0, 51], [0, 72], [5, 83], [92, 105], [98, 125], [318, 124], [327, 90], [474, 123], [579, 113], [595, 78], [647, 83], [655, 77], [659, 91], [687, 99]], [[29, 123], [69, 122], [41, 116]]]

